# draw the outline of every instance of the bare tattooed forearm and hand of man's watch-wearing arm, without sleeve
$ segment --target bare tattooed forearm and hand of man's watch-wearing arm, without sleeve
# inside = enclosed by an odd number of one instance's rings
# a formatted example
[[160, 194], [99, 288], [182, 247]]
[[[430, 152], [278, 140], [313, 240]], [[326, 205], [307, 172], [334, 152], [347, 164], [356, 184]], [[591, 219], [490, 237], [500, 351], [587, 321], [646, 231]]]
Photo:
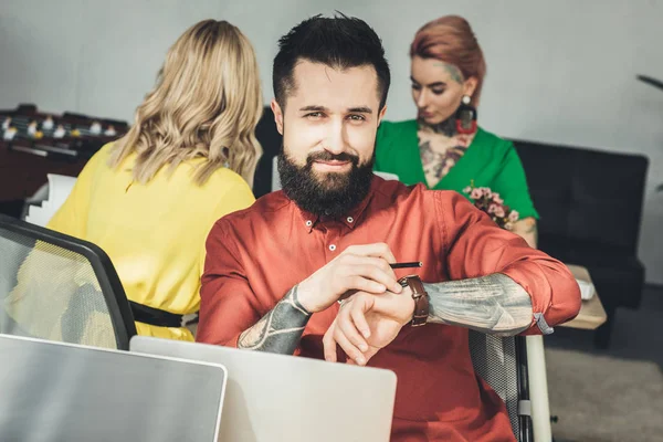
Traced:
[[[511, 277], [487, 276], [423, 284], [431, 324], [456, 325], [486, 334], [511, 336], [529, 328], [529, 294]], [[354, 364], [366, 365], [412, 320], [414, 301], [407, 287], [400, 295], [356, 293], [345, 301], [323, 338], [325, 359], [336, 361], [340, 346]]]

